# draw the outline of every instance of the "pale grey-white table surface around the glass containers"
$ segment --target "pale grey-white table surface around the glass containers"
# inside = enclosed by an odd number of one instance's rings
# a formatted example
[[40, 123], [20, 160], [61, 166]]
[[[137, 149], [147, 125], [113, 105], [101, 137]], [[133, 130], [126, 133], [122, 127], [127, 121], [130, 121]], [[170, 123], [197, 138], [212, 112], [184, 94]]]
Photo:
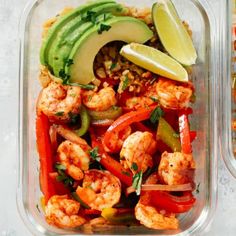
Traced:
[[[31, 235], [16, 207], [17, 32], [27, 0], [0, 0], [0, 235]], [[218, 206], [204, 235], [236, 235], [236, 180], [219, 157]]]

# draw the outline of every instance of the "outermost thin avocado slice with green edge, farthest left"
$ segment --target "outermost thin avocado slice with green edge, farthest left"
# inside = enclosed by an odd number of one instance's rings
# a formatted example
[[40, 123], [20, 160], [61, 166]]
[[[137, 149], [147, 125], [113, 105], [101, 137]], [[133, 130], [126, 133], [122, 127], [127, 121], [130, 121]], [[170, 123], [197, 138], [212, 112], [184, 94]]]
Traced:
[[40, 50], [40, 62], [42, 65], [48, 65], [48, 51], [53, 44], [54, 39], [56, 38], [60, 29], [74, 19], [76, 16], [84, 14], [86, 11], [90, 10], [93, 7], [106, 4], [106, 3], [114, 3], [114, 0], [97, 0], [88, 2], [87, 4], [81, 5], [72, 12], [61, 16], [48, 30], [47, 36], [43, 39], [42, 47]]

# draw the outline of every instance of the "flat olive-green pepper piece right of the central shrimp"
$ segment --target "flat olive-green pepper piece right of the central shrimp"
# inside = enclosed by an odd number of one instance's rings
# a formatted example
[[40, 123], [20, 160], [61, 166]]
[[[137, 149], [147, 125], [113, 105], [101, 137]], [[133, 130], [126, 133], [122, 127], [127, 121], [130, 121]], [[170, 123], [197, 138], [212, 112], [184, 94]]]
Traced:
[[159, 119], [157, 139], [163, 141], [173, 152], [181, 152], [181, 144], [176, 137], [176, 132], [163, 117]]

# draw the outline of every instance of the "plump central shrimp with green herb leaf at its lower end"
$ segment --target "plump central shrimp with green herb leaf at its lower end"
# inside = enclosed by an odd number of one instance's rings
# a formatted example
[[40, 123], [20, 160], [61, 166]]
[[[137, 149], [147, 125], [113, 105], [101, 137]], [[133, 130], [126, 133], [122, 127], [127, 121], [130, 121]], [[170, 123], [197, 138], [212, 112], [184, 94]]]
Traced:
[[121, 152], [121, 164], [134, 174], [153, 166], [152, 154], [156, 151], [156, 141], [149, 132], [136, 131], [124, 142]]

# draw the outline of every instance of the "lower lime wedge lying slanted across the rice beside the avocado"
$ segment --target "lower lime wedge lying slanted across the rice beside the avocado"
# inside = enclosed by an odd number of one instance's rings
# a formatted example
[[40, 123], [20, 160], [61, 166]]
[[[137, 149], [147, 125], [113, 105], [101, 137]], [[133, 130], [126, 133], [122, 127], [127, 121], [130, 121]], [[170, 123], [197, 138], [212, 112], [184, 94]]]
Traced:
[[184, 67], [155, 48], [131, 43], [122, 47], [120, 54], [134, 64], [155, 74], [176, 81], [188, 81], [188, 73]]

